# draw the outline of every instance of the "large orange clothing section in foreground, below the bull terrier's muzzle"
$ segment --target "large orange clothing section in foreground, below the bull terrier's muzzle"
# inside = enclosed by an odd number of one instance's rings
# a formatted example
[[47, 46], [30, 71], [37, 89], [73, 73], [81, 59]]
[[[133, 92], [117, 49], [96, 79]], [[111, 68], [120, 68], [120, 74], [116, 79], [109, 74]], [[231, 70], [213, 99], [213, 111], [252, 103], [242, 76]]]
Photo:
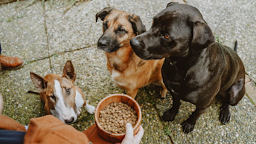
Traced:
[[89, 143], [85, 134], [77, 131], [71, 125], [65, 125], [52, 115], [33, 118], [25, 134], [25, 144], [28, 143]]

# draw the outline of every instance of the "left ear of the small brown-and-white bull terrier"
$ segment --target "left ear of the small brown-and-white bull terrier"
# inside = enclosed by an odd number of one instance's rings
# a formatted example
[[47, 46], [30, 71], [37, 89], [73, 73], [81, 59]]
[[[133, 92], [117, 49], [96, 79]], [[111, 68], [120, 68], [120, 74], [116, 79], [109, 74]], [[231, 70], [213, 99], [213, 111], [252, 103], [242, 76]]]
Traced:
[[31, 73], [31, 79], [36, 88], [39, 89], [39, 92], [42, 92], [43, 89], [47, 87], [47, 82], [41, 76], [36, 73]]

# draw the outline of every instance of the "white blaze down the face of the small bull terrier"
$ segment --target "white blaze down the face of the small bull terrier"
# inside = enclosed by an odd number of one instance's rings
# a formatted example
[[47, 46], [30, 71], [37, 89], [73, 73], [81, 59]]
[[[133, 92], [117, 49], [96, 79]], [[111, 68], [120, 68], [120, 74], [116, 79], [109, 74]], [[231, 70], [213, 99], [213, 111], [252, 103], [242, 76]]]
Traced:
[[71, 120], [72, 117], [74, 118], [74, 121], [77, 120], [77, 114], [74, 112], [74, 109], [65, 103], [59, 81], [54, 80], [54, 88], [54, 95], [57, 97], [57, 103], [54, 105], [55, 110], [51, 110], [51, 114], [63, 122], [65, 122], [65, 120]]

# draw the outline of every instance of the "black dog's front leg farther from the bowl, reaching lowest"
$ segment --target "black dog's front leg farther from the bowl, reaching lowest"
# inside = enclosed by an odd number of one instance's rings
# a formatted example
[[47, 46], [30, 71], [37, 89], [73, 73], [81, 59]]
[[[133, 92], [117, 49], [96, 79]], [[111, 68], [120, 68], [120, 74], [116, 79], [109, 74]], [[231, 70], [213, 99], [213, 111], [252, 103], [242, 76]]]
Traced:
[[193, 127], [196, 124], [196, 120], [201, 114], [205, 112], [206, 108], [196, 108], [196, 111], [189, 116], [188, 120], [182, 123], [182, 128], [185, 133], [193, 131]]

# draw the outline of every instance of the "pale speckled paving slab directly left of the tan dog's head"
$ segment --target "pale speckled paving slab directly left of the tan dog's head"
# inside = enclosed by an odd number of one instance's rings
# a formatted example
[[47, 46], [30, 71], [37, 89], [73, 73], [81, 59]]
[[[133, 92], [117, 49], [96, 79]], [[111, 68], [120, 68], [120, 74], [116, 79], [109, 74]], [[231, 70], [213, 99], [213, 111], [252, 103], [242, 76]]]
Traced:
[[95, 45], [102, 33], [100, 23], [95, 23], [95, 10], [100, 9], [100, 5], [102, 3], [89, 1], [86, 7], [84, 4], [74, 5], [66, 13], [64, 6], [48, 10], [45, 15], [50, 53]]

